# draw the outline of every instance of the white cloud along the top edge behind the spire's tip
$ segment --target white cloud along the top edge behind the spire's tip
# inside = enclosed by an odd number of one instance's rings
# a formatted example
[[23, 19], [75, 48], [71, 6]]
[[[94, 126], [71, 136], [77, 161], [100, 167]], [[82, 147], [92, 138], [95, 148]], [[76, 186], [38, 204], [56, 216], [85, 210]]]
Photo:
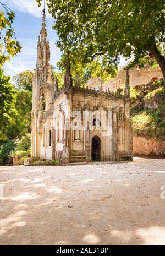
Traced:
[[[7, 0], [4, 2], [8, 2]], [[39, 8], [38, 3], [35, 0], [10, 0], [13, 3], [14, 7], [20, 10], [21, 12], [28, 12], [34, 15], [35, 17], [41, 17], [41, 13], [43, 10], [43, 1], [42, 5]], [[47, 6], [46, 9], [46, 17], [52, 18], [51, 15], [48, 13]]]

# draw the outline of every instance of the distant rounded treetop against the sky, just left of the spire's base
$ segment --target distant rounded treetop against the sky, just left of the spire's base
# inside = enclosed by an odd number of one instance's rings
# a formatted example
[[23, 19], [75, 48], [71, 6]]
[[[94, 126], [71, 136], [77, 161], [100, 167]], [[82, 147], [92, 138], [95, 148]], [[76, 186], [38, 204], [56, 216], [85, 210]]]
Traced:
[[26, 70], [20, 72], [17, 75], [14, 75], [12, 82], [14, 88], [17, 90], [29, 90], [32, 91], [32, 79], [33, 79], [34, 72], [31, 70]]

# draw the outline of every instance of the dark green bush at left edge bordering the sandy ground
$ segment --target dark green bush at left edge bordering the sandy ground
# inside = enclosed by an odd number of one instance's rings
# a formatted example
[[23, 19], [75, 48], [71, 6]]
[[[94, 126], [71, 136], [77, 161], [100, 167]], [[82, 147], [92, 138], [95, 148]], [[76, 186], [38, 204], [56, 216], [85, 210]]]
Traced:
[[1, 141], [0, 142], [0, 164], [7, 164], [11, 157], [10, 152], [14, 150], [15, 143], [11, 140]]

